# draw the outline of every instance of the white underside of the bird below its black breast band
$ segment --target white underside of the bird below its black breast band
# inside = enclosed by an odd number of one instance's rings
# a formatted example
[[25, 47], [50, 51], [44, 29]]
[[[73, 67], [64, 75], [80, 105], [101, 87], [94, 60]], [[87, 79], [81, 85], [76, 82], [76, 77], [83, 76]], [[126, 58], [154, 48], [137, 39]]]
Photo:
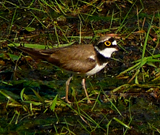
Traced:
[[98, 73], [100, 70], [102, 70], [107, 65], [107, 63], [108, 62], [103, 63], [102, 65], [97, 64], [92, 70], [88, 71], [86, 75], [94, 75]]

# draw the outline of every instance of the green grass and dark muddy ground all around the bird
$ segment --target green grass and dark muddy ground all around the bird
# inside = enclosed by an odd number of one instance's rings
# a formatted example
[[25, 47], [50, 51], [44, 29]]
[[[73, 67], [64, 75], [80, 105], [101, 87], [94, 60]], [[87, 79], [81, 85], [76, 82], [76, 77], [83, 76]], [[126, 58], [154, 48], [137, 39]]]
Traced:
[[[159, 0], [2, 0], [0, 134], [159, 134]], [[81, 77], [34, 61], [16, 47], [95, 43], [117, 34], [120, 50], [101, 73]]]

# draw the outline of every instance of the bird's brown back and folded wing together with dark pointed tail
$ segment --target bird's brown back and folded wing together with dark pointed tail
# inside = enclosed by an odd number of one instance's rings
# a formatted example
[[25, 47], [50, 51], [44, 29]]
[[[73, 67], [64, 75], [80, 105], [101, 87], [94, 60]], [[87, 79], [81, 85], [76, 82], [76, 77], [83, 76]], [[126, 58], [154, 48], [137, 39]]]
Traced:
[[68, 71], [85, 73], [96, 65], [96, 60], [89, 58], [95, 55], [94, 47], [91, 44], [72, 45], [48, 50], [18, 48], [30, 54], [33, 58], [48, 61]]

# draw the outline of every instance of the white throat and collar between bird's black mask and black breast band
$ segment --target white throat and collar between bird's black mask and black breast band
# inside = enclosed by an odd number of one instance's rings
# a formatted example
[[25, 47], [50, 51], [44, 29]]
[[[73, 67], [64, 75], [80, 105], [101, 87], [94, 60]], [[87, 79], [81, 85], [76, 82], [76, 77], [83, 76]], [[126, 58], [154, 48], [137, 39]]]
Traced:
[[103, 55], [104, 57], [106, 58], [110, 58], [112, 53], [117, 51], [116, 48], [105, 48], [104, 50], [100, 50], [98, 49], [98, 47], [95, 46], [95, 49], [101, 54]]

